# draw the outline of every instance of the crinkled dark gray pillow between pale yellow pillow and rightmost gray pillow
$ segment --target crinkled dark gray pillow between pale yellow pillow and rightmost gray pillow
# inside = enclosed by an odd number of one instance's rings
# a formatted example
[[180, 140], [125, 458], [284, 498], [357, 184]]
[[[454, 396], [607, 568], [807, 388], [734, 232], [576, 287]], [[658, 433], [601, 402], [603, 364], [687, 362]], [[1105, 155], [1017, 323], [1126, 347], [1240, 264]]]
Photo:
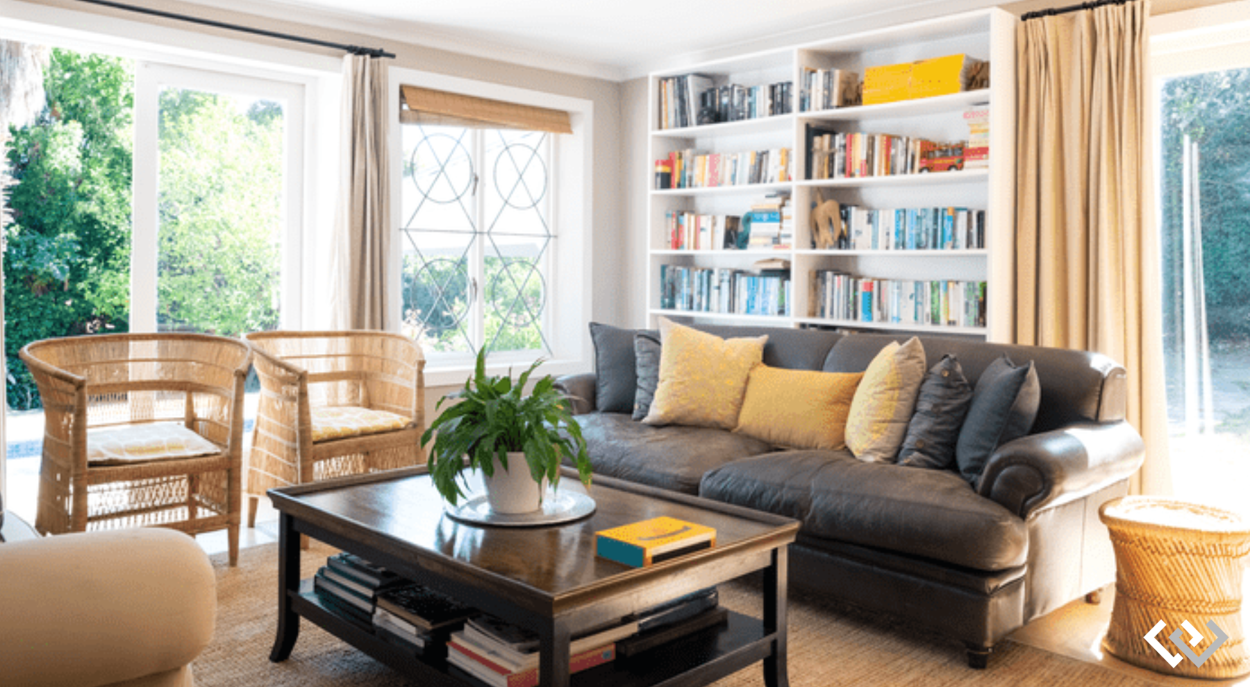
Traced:
[[955, 443], [972, 405], [972, 385], [952, 355], [929, 368], [920, 382], [916, 410], [899, 451], [899, 465], [946, 470], [955, 465]]

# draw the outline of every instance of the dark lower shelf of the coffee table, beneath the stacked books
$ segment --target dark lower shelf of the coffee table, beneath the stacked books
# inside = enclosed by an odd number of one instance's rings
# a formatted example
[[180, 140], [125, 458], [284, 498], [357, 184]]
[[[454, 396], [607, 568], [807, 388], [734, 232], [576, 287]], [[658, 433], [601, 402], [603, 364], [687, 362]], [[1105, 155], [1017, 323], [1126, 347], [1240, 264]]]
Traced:
[[[305, 581], [308, 582], [308, 581]], [[446, 662], [445, 656], [414, 656], [359, 627], [339, 611], [321, 602], [308, 585], [289, 592], [291, 610], [326, 632], [420, 681], [422, 686], [464, 687], [486, 685]], [[571, 686], [584, 687], [680, 687], [708, 685], [772, 653], [775, 635], [764, 633], [759, 618], [729, 612], [725, 625], [702, 630], [629, 658], [570, 676]]]

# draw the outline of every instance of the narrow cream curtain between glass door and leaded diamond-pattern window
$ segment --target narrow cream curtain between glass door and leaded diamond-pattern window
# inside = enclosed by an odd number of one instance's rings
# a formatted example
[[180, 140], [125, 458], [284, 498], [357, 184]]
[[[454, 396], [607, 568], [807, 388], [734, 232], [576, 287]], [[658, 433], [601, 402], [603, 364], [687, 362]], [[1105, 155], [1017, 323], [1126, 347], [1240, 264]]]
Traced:
[[348, 55], [342, 77], [331, 317], [338, 329], [385, 330], [391, 235], [386, 65], [380, 57]]

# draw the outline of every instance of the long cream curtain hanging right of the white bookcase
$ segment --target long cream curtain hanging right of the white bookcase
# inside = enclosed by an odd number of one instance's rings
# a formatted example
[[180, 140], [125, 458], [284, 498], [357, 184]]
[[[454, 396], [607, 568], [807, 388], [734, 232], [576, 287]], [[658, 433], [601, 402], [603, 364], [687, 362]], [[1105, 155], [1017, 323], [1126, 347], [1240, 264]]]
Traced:
[[1146, 441], [1132, 487], [1168, 493], [1149, 14], [1139, 0], [1020, 24], [1015, 339], [1124, 365]]

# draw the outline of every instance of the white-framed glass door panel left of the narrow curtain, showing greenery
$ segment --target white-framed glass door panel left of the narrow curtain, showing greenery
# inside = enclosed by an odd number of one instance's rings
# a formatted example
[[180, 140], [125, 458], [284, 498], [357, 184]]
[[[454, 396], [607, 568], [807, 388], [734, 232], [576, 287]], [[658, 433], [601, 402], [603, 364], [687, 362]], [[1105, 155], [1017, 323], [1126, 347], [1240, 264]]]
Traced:
[[132, 331], [296, 326], [302, 87], [140, 62]]

